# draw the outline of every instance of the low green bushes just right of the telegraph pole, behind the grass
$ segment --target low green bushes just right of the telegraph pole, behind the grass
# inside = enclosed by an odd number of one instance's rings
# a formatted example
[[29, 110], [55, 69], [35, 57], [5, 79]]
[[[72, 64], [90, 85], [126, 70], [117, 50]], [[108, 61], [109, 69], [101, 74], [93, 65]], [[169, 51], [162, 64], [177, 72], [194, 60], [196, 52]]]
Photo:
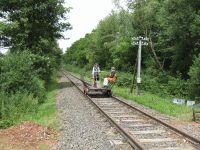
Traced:
[[141, 87], [145, 91], [159, 95], [173, 95], [188, 97], [188, 83], [181, 79], [181, 75], [171, 76], [159, 70], [145, 70], [142, 75]]

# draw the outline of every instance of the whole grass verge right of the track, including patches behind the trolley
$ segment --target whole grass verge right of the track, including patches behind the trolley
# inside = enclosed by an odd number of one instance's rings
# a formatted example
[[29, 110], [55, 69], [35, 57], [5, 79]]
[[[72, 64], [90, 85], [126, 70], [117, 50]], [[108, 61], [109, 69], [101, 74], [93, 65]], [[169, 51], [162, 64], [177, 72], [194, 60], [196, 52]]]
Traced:
[[[79, 69], [78, 67], [74, 66], [72, 67], [69, 65], [66, 66], [65, 69], [73, 72], [74, 75], [76, 75], [77, 77], [79, 77], [78, 74], [83, 74], [82, 71], [85, 71], [84, 69]], [[90, 71], [87, 71], [85, 74], [86, 74], [85, 80], [91, 82], [92, 79]], [[105, 74], [108, 74], [108, 72], [103, 71], [103, 73], [101, 73], [102, 79], [103, 76], [105, 76]], [[118, 75], [123, 75], [123, 73], [118, 73]], [[143, 91], [143, 93], [140, 96], [137, 96], [135, 94], [136, 93], [135, 91], [133, 93], [129, 93], [129, 90], [130, 89], [127, 87], [117, 87], [117, 86], [114, 86], [112, 89], [113, 93], [117, 96], [121, 96], [127, 100], [135, 101], [138, 104], [144, 105], [163, 114], [173, 116], [181, 120], [187, 120], [187, 121], [192, 120], [192, 108], [184, 105], [173, 104], [172, 103], [173, 96], [171, 95], [160, 96], [157, 94], [152, 94]]]

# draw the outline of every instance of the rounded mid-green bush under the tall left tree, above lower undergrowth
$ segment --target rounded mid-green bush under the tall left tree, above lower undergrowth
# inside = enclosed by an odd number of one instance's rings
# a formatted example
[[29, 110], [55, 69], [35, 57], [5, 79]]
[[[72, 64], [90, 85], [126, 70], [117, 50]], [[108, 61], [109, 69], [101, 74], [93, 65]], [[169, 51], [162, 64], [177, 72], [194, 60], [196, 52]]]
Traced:
[[44, 83], [33, 69], [32, 58], [33, 54], [28, 52], [8, 54], [0, 58], [0, 90], [10, 94], [28, 91], [43, 102]]

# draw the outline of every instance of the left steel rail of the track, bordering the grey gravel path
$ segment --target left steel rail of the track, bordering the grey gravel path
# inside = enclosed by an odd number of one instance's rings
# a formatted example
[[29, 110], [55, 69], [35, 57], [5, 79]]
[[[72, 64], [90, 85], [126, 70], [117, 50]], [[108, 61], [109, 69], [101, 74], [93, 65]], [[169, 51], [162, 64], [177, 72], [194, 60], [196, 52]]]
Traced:
[[[87, 99], [89, 99], [97, 108], [98, 110], [106, 117], [108, 118], [109, 122], [111, 124], [113, 124], [118, 131], [125, 137], [125, 139], [129, 142], [129, 144], [133, 147], [133, 148], [137, 148], [140, 150], [145, 150], [145, 147], [143, 147], [136, 139], [134, 139], [128, 132], [126, 132], [115, 120], [113, 120], [108, 114], [106, 114], [99, 106], [98, 104], [93, 101], [88, 95], [84, 94], [83, 91], [66, 75], [66, 73], [63, 72], [63, 74], [70, 80], [70, 82], [79, 90], [79, 92], [86, 97]], [[70, 74], [71, 75], [71, 74]], [[71, 75], [73, 76], [73, 75]], [[75, 76], [73, 76], [75, 77]], [[80, 80], [79, 78], [75, 77], [76, 79]]]

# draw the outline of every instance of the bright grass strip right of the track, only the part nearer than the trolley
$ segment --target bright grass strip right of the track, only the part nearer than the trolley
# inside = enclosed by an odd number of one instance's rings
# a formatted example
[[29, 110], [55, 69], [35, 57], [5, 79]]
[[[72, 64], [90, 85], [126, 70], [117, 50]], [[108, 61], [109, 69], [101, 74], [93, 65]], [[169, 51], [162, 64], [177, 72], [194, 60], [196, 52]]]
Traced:
[[163, 114], [173, 116], [182, 120], [191, 120], [192, 108], [184, 105], [176, 105], [172, 103], [171, 97], [160, 97], [155, 94], [144, 92], [137, 96], [135, 91], [129, 93], [128, 88], [114, 87], [114, 94], [133, 100], [138, 104], [142, 104]]

